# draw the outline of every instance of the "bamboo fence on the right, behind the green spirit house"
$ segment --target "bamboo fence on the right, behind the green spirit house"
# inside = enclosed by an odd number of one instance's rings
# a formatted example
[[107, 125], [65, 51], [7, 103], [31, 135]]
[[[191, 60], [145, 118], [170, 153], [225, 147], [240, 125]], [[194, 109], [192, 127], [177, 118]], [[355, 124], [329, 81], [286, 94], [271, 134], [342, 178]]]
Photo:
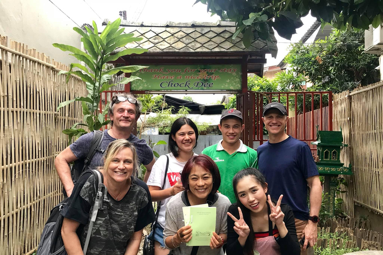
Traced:
[[345, 211], [354, 215], [354, 205], [383, 215], [383, 82], [334, 96], [334, 129], [342, 127], [344, 142], [349, 144], [341, 161], [353, 165]]

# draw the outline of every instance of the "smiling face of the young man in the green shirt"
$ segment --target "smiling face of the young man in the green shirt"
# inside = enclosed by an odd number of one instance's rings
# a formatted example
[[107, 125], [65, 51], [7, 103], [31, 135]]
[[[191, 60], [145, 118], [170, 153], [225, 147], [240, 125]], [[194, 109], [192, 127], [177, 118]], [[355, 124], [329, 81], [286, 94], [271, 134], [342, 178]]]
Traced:
[[241, 132], [245, 125], [241, 124], [238, 118], [223, 119], [222, 124], [218, 125], [222, 132], [222, 139], [228, 144], [234, 144], [239, 141]]

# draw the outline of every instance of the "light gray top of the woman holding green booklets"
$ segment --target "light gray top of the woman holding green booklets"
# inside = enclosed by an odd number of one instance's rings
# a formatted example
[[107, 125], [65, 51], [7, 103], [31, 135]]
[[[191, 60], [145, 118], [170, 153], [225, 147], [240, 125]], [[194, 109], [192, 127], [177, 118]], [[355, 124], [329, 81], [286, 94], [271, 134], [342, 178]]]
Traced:
[[[184, 191], [186, 192], [186, 191]], [[180, 192], [169, 201], [166, 206], [166, 227], [164, 230], [164, 243], [165, 239], [169, 236], [176, 235], [177, 231], [185, 226], [184, 214], [182, 208], [187, 206], [182, 201], [182, 193]], [[217, 216], [215, 219], [215, 233], [227, 234], [227, 214], [231, 203], [227, 197], [218, 193], [218, 199], [212, 205], [216, 207]], [[166, 244], [165, 244], [166, 245]], [[167, 247], [170, 249], [169, 247]], [[182, 243], [179, 248], [173, 250], [174, 255], [189, 255], [192, 253], [192, 246], [186, 246], [185, 243]], [[223, 255], [222, 248], [220, 249], [210, 249], [210, 246], [200, 246], [198, 248], [197, 255]]]

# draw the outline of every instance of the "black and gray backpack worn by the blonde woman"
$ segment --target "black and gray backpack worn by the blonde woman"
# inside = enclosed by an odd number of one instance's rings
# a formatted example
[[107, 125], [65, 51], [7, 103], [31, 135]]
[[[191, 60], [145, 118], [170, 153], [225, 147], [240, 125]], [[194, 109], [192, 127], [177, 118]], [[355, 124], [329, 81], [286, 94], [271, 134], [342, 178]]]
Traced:
[[[102, 210], [103, 201], [108, 201], [108, 190], [103, 184], [104, 178], [99, 171], [86, 170], [80, 175], [80, 177], [89, 172], [92, 173], [95, 178], [94, 183], [97, 194], [95, 196], [93, 206], [89, 212], [89, 228], [83, 249], [84, 254], [86, 254], [86, 251], [88, 249], [93, 223], [97, 218], [97, 212], [98, 210]], [[36, 255], [67, 255], [64, 247], [64, 242], [61, 238], [61, 227], [64, 217], [60, 215], [60, 211], [67, 204], [68, 200], [69, 198], [65, 198], [50, 211], [49, 219], [45, 223], [44, 229], [41, 234], [40, 243], [38, 244]]]

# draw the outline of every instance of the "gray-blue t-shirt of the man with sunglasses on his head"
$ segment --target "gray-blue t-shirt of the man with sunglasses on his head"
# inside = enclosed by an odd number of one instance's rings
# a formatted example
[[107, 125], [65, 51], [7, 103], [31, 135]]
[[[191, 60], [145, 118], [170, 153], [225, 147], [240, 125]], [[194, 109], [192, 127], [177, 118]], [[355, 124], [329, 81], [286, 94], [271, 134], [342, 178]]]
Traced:
[[[93, 136], [94, 132], [86, 133], [81, 135], [80, 138], [69, 145], [70, 150], [78, 159], [85, 158], [88, 155]], [[113, 138], [108, 134], [108, 129], [104, 130], [104, 138], [102, 139], [100, 146], [101, 149], [106, 149], [109, 143], [114, 140], [116, 140], [116, 138]], [[144, 139], [139, 139], [137, 136], [130, 134], [128, 141], [133, 143], [133, 145], [136, 147], [138, 161], [140, 161], [140, 163], [147, 165], [152, 162], [154, 158], [153, 150], [151, 147], [149, 147]], [[96, 151], [92, 161], [90, 162], [90, 165], [88, 166], [88, 169], [96, 169], [98, 166], [102, 166], [102, 155], [103, 153]]]

